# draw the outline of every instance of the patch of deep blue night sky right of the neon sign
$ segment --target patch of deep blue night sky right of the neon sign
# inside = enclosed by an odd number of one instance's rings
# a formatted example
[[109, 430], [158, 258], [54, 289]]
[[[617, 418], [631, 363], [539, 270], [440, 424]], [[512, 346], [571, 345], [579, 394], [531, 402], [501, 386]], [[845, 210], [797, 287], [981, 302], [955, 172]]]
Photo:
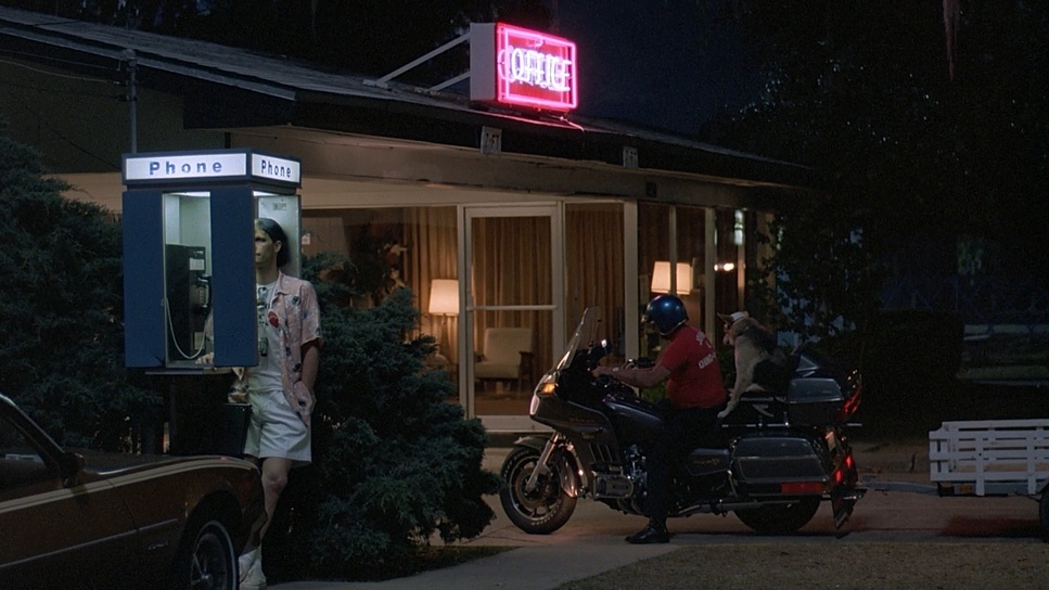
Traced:
[[739, 36], [695, 4], [559, 0], [558, 34], [577, 44], [577, 112], [693, 134], [752, 102], [760, 82]]

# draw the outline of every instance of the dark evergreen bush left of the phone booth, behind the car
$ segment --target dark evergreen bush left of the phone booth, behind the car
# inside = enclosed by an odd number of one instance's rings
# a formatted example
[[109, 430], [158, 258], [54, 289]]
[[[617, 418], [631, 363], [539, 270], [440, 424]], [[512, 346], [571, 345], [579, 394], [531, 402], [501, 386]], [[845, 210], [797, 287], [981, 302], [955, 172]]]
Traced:
[[126, 449], [156, 397], [124, 368], [120, 228], [0, 121], [0, 392], [59, 441]]

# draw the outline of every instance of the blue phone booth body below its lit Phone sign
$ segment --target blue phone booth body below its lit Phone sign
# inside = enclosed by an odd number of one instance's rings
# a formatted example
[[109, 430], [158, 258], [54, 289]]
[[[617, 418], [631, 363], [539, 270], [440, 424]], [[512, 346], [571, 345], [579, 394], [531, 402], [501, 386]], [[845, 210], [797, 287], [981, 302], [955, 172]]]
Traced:
[[250, 187], [124, 193], [125, 364], [257, 363]]

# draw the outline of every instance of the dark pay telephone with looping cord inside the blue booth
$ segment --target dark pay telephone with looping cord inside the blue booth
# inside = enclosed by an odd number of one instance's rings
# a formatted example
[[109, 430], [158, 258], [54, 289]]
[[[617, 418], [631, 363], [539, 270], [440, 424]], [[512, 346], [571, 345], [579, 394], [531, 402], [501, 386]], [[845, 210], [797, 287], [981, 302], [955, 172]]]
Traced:
[[166, 246], [164, 270], [170, 360], [193, 360], [205, 351], [204, 325], [212, 309], [206, 254], [204, 246]]

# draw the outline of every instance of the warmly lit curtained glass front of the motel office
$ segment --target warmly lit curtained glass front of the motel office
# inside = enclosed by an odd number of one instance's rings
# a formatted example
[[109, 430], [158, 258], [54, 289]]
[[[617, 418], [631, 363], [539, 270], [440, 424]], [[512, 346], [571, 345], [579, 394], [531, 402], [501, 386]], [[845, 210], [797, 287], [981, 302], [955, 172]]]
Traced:
[[[634, 219], [628, 209], [637, 219], [635, 269], [626, 259], [634, 252], [624, 239], [634, 231], [625, 229]], [[355, 305], [379, 305], [391, 290], [410, 288], [421, 311], [420, 333], [438, 343], [432, 364], [459, 384], [449, 401], [462, 403], [468, 415], [526, 420], [535, 383], [589, 306], [603, 311], [602, 337], [615, 356], [610, 362], [658, 357], [658, 334], [638, 320], [660, 293], [673, 290], [694, 324], [717, 330], [713, 311], [743, 305], [741, 278], [757, 255], [746, 239], [754, 221], [733, 209], [578, 198], [312, 209], [303, 214], [303, 253], [349, 256], [366, 291]], [[661, 275], [670, 268], [673, 279]], [[437, 282], [452, 288], [453, 300], [433, 305]], [[636, 296], [628, 297], [630, 285]], [[628, 302], [637, 309], [628, 309]], [[516, 342], [507, 345], [510, 357], [492, 349], [499, 338]], [[485, 364], [495, 357], [519, 364]]]

